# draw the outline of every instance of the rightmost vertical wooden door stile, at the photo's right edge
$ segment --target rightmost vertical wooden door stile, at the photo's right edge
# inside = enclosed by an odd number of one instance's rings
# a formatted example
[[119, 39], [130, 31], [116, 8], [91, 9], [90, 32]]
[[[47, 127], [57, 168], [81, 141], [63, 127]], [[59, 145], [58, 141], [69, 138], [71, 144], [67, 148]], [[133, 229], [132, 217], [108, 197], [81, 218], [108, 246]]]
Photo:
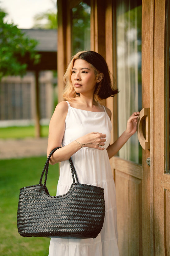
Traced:
[[[169, 255], [170, 251], [170, 174], [167, 173], [167, 140], [169, 131], [167, 112], [169, 103], [166, 95], [166, 20], [167, 1], [155, 0], [154, 26], [154, 223], [155, 255]], [[168, 31], [169, 34], [169, 31]], [[169, 35], [168, 35], [169, 36]], [[169, 40], [169, 38], [168, 38]], [[168, 74], [167, 74], [168, 75]], [[169, 95], [169, 94], [168, 94]], [[168, 131], [167, 131], [168, 130]]]

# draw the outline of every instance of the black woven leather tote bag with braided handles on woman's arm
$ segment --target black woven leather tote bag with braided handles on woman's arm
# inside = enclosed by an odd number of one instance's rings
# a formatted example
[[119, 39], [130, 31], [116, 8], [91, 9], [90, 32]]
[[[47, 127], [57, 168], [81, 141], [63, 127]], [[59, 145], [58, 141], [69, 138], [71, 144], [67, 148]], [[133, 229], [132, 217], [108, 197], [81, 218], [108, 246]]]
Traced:
[[70, 158], [73, 178], [70, 190], [64, 195], [49, 195], [46, 187], [49, 160], [58, 148], [49, 154], [40, 183], [20, 189], [18, 232], [21, 236], [95, 238], [104, 222], [104, 189], [80, 184]]

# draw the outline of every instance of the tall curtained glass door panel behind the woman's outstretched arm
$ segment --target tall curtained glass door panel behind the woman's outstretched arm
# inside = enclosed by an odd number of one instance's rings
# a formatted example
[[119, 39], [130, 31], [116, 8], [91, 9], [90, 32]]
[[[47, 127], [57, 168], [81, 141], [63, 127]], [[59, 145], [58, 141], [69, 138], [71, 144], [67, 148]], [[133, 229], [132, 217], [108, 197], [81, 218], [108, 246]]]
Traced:
[[[126, 129], [130, 115], [142, 109], [142, 1], [117, 1], [116, 19], [118, 131], [120, 136]], [[137, 133], [122, 147], [119, 156], [136, 163], [142, 162], [142, 149]]]

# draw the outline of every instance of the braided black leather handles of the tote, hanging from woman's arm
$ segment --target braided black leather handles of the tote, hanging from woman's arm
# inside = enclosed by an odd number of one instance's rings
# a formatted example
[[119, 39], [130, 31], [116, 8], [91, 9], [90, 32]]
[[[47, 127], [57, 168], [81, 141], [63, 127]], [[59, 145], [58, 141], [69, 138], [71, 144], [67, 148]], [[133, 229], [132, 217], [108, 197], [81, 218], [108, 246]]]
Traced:
[[[46, 162], [45, 162], [45, 166], [44, 166], [44, 168], [43, 168], [43, 171], [42, 171], [41, 177], [40, 177], [40, 184], [42, 184], [42, 178], [43, 178], [44, 173], [45, 173], [44, 186], [46, 186], [46, 182], [47, 182], [47, 175], [48, 175], [50, 157], [51, 157], [51, 156], [53, 155], [53, 153], [54, 153], [57, 149], [59, 149], [59, 148], [61, 148], [61, 147], [54, 148], [54, 149], [50, 152], [50, 154], [49, 154], [49, 156], [48, 156], [48, 158], [47, 158], [47, 160], [46, 160]], [[77, 177], [77, 173], [76, 173], [76, 171], [75, 171], [74, 164], [73, 164], [71, 158], [69, 159], [69, 162], [70, 162], [70, 168], [71, 168], [71, 174], [72, 174], [72, 178], [73, 178], [73, 183], [75, 184], [75, 178], [76, 178], [76, 182], [79, 183], [78, 177]], [[74, 176], [75, 176], [75, 178], [74, 178]]]

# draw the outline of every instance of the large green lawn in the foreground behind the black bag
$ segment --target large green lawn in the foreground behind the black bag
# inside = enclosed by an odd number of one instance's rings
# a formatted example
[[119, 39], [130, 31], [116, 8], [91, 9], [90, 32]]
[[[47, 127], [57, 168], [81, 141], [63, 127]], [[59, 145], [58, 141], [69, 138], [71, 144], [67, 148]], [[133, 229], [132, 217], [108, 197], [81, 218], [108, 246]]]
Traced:
[[[47, 256], [49, 238], [21, 237], [17, 230], [19, 189], [39, 183], [46, 157], [0, 160], [0, 255]], [[56, 195], [58, 164], [49, 166], [47, 187]]]

